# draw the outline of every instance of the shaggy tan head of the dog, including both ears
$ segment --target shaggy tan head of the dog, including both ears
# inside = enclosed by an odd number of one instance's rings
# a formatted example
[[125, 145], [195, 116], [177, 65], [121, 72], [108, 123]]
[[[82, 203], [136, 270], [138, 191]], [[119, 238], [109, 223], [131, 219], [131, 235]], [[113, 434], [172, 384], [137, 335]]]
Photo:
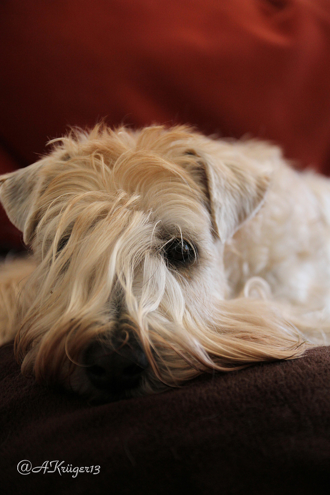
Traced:
[[112, 400], [292, 354], [288, 336], [265, 350], [276, 323], [224, 304], [224, 246], [270, 180], [248, 146], [183, 127], [97, 127], [0, 180], [38, 264], [15, 342], [38, 380]]

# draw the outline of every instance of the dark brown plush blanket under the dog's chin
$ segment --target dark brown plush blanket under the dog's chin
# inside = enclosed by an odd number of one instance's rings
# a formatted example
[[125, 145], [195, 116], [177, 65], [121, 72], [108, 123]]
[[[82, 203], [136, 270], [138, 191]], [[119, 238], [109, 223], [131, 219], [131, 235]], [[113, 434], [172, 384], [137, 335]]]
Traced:
[[[92, 406], [21, 376], [5, 346], [1, 493], [328, 494], [329, 392], [324, 347], [295, 361]], [[39, 472], [20, 474], [21, 460]]]

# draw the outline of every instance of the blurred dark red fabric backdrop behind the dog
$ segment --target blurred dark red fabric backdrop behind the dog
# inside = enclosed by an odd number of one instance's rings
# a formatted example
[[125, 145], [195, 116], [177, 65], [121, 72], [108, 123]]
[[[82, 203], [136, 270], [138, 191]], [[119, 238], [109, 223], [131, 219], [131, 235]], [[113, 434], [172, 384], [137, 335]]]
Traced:
[[0, 45], [2, 172], [104, 117], [248, 133], [330, 171], [329, 0], [6, 0]]

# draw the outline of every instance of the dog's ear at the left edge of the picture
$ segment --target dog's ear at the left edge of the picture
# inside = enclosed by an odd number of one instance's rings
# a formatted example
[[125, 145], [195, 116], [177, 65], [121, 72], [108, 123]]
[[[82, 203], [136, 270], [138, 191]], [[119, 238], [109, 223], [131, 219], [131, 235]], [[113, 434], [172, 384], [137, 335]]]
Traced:
[[24, 233], [27, 243], [32, 234], [31, 217], [41, 185], [42, 162], [33, 163], [0, 176], [0, 201], [12, 224]]

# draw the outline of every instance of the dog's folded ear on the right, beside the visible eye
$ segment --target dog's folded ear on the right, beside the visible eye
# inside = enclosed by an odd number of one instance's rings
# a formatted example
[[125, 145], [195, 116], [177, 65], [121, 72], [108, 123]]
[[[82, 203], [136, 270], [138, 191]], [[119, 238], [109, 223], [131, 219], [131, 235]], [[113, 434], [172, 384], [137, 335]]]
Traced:
[[[253, 152], [253, 145], [223, 143], [213, 146], [212, 152], [196, 149], [194, 153], [203, 171], [213, 227], [222, 242], [258, 211], [269, 187], [274, 156], [267, 146], [255, 146], [258, 150]], [[269, 148], [278, 153], [277, 148]]]

